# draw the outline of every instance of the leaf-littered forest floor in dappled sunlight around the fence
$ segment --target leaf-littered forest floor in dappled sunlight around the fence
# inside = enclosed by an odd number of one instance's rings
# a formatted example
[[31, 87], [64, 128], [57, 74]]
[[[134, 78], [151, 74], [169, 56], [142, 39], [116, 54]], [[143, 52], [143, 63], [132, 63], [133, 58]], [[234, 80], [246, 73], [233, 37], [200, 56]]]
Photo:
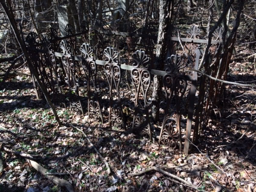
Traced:
[[[252, 61], [233, 61], [227, 80], [255, 84], [256, 64]], [[19, 72], [29, 73], [26, 67]], [[128, 176], [152, 166], [180, 166], [168, 171], [201, 191], [256, 192], [256, 91], [227, 85], [223, 106], [214, 112], [198, 148], [194, 146], [184, 155], [107, 123], [88, 125], [87, 116], [58, 108], [61, 121], [84, 130], [102, 160], [80, 131], [58, 126], [49, 105], [35, 98], [29, 76], [15, 76], [0, 87], [0, 143], [13, 151], [40, 155], [35, 161], [48, 173], [64, 173], [56, 176], [72, 183], [75, 191], [195, 191], [154, 171]], [[25, 158], [4, 150], [2, 158], [1, 192], [64, 191]], [[112, 174], [108, 175], [104, 161]]]

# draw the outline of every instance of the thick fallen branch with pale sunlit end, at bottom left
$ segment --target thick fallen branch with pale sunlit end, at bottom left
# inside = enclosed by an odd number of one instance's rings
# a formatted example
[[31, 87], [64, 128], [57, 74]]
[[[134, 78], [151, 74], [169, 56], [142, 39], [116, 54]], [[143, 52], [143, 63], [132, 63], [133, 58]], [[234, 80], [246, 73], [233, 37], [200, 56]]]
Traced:
[[61, 186], [61, 187], [65, 187], [65, 189], [68, 192], [75, 192], [74, 189], [73, 189], [73, 186], [67, 180], [60, 179], [60, 178], [52, 176], [52, 175], [48, 175], [47, 174], [47, 169], [45, 169], [43, 166], [39, 165], [38, 163], [36, 163], [33, 160], [28, 160], [28, 159], [26, 159], [26, 160], [30, 163], [30, 165], [34, 169], [36, 169], [38, 172], [40, 172], [42, 175], [47, 177], [47, 179], [51, 180], [56, 185]]

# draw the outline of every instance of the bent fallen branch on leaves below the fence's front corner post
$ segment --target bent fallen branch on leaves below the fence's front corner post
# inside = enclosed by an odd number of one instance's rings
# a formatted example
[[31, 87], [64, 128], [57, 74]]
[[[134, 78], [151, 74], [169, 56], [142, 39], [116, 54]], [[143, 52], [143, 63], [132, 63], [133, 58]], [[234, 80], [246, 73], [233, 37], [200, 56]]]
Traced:
[[188, 181], [186, 181], [186, 180], [184, 180], [180, 177], [177, 177], [176, 175], [173, 175], [169, 172], [166, 172], [163, 169], [160, 169], [156, 166], [151, 167], [149, 169], [146, 169], [145, 171], [142, 171], [142, 172], [139, 172], [139, 173], [129, 173], [128, 176], [140, 176], [140, 175], [144, 175], [145, 173], [148, 173], [148, 172], [151, 172], [151, 171], [156, 171], [156, 172], [162, 173], [164, 175], [167, 175], [168, 177], [172, 177], [173, 179], [178, 180], [179, 182], [185, 184], [186, 186], [189, 186], [192, 189], [195, 189], [195, 190], [199, 191], [199, 189], [196, 186], [192, 185], [192, 183], [189, 183]]

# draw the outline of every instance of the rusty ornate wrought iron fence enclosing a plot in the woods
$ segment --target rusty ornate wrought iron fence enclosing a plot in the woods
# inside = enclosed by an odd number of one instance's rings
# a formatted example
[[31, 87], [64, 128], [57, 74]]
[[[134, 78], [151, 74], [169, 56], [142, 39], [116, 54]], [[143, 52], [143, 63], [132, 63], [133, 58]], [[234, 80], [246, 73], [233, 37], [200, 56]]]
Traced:
[[[190, 139], [193, 115], [202, 115], [201, 111], [203, 111], [199, 104], [204, 102], [204, 95], [195, 96], [198, 74], [187, 70], [188, 67], [198, 70], [202, 44], [207, 44], [207, 40], [199, 39], [199, 29], [192, 26], [187, 31], [186, 38], [173, 37], [172, 41], [184, 43], [187, 54], [171, 55], [165, 61], [164, 70], [155, 70], [150, 61], [152, 56], [150, 58], [146, 51], [139, 49], [134, 51], [131, 59], [129, 55], [126, 60], [120, 59], [120, 54], [115, 48], [111, 46], [103, 48], [103, 39], [100, 39], [103, 37], [100, 34], [145, 36], [151, 39], [156, 39], [156, 37], [104, 31], [95, 31], [92, 36], [88, 34], [87, 26], [82, 24], [84, 25], [83, 32], [79, 34], [73, 34], [72, 26], [67, 26], [67, 37], [63, 38], [57, 37], [57, 31], [52, 28], [47, 32], [48, 38], [41, 43], [37, 42], [37, 35], [34, 32], [26, 37], [33, 65], [52, 96], [53, 102], [64, 107], [69, 105], [71, 110], [82, 115], [87, 113], [90, 119], [103, 123], [105, 118], [102, 105], [105, 105], [103, 104], [105, 102], [102, 102], [102, 95], [107, 95], [109, 125], [125, 129], [131, 127], [144, 132], [146, 130], [150, 139], [157, 137], [159, 143], [174, 148], [179, 147], [181, 151], [184, 140]], [[212, 58], [209, 58], [209, 62], [205, 64], [207, 70], [212, 65], [218, 65], [220, 61], [221, 32], [223, 32], [221, 28], [215, 32], [211, 49]], [[79, 44], [79, 39], [84, 43]], [[90, 43], [93, 44], [94, 50]], [[215, 69], [212, 71], [216, 73]], [[105, 78], [99, 79], [99, 73], [105, 73]], [[165, 94], [161, 102], [163, 121], [160, 134], [153, 132], [150, 117], [152, 76], [156, 75], [162, 77], [162, 90]], [[104, 79], [108, 82], [108, 91], [102, 89], [101, 81]], [[40, 90], [33, 77], [32, 80], [39, 98]], [[127, 84], [126, 90], [120, 87], [121, 82]], [[205, 83], [206, 79], [202, 78], [200, 89]], [[209, 87], [213, 89], [214, 82], [211, 81]], [[81, 93], [81, 89], [86, 90], [86, 96]], [[125, 95], [125, 91], [128, 94]], [[87, 100], [87, 105], [84, 105], [84, 100]], [[125, 113], [126, 102], [133, 104], [133, 107], [129, 105], [133, 111], [131, 122], [128, 121], [128, 115]], [[196, 111], [194, 111], [195, 102], [198, 103]], [[207, 102], [209, 105], [209, 100]], [[86, 108], [87, 112], [85, 112]], [[207, 113], [209, 111], [204, 114]], [[183, 123], [186, 126], [186, 136], [182, 135]], [[195, 126], [197, 123], [198, 121], [195, 121]], [[187, 153], [187, 150], [188, 146], [184, 151]]]

